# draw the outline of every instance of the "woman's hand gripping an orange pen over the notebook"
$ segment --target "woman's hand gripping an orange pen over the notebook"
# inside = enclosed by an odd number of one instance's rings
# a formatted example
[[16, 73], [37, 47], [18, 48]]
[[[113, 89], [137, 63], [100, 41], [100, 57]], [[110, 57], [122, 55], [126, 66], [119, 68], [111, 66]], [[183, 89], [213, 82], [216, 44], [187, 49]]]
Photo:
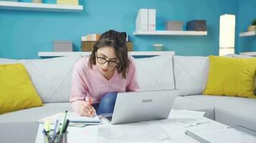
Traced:
[[91, 105], [85, 101], [78, 102], [77, 112], [81, 116], [85, 116], [85, 117], [91, 117], [91, 115], [96, 113], [95, 109], [93, 109], [93, 107], [91, 107]]

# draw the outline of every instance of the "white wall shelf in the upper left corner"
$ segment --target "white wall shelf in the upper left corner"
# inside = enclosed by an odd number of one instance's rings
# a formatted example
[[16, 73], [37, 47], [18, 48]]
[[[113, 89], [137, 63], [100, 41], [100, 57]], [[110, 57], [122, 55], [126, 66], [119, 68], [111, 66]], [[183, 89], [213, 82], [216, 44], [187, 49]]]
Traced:
[[23, 11], [79, 12], [83, 10], [83, 6], [0, 1], [0, 9]]

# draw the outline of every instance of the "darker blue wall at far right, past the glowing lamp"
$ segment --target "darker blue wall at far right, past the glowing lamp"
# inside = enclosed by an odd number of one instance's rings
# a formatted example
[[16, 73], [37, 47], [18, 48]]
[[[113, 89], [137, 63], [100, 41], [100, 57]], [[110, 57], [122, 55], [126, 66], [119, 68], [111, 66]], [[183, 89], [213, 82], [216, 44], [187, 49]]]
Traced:
[[[239, 0], [239, 32], [247, 31], [253, 19], [256, 19], [256, 1]], [[239, 51], [256, 51], [255, 36], [241, 37]]]

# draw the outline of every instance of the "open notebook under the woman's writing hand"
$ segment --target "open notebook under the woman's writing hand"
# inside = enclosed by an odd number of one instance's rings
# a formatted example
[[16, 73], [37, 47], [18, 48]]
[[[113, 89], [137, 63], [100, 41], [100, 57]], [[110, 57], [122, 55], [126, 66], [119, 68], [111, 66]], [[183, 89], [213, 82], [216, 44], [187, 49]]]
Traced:
[[[63, 122], [64, 116], [65, 116], [64, 112], [59, 112], [49, 117], [42, 118], [38, 120], [38, 122], [44, 123], [45, 120], [48, 120], [50, 124], [55, 124], [55, 121], [58, 117], [60, 119], [60, 122]], [[101, 124], [101, 119], [99, 119], [98, 116], [83, 117], [83, 116], [80, 116], [79, 114], [76, 114], [75, 112], [68, 112], [67, 119], [69, 119], [70, 121], [69, 123], [70, 126], [76, 126], [76, 127], [85, 127], [88, 124]]]

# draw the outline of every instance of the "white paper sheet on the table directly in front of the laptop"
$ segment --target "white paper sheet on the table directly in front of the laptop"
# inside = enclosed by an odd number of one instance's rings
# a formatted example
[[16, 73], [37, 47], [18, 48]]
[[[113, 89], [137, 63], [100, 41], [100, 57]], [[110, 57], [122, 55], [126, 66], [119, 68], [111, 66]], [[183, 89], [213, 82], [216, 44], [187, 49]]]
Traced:
[[159, 142], [175, 143], [173, 139], [160, 127], [150, 125], [124, 125], [118, 127], [100, 127], [98, 129], [98, 143], [104, 142]]

